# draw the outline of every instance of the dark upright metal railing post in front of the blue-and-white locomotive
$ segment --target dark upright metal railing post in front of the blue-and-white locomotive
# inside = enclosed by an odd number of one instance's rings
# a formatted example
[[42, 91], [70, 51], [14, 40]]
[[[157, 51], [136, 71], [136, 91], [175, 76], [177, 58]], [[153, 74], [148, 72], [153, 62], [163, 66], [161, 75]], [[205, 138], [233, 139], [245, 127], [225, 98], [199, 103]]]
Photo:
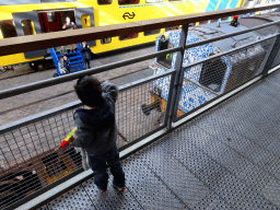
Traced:
[[[177, 104], [179, 101], [179, 96], [180, 96], [180, 89], [182, 89], [182, 84], [183, 84], [183, 79], [184, 79], [184, 71], [183, 71], [183, 59], [184, 59], [184, 52], [185, 52], [185, 46], [186, 46], [186, 40], [187, 40], [187, 34], [188, 34], [188, 24], [183, 25], [182, 27], [182, 33], [180, 33], [180, 38], [179, 38], [179, 47], [182, 47], [182, 49], [177, 52], [176, 56], [176, 61], [175, 61], [175, 70], [176, 70], [176, 74], [174, 78], [174, 84], [171, 85], [171, 88], [173, 86], [173, 90], [171, 90], [170, 92], [170, 103], [171, 103], [171, 107], [167, 114], [167, 129], [171, 129], [172, 127], [172, 122], [176, 117], [176, 113], [177, 113]], [[173, 82], [173, 81], [171, 81]]]

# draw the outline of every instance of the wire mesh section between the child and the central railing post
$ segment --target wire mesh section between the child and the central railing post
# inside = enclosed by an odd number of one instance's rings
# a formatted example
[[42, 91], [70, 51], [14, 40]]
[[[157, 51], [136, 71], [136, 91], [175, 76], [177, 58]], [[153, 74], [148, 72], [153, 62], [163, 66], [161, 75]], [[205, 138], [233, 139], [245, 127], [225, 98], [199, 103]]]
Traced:
[[119, 93], [116, 104], [119, 148], [163, 126], [167, 102], [154, 93], [159, 81], [162, 81], [161, 88], [170, 89], [170, 83], [163, 79], [161, 77]]

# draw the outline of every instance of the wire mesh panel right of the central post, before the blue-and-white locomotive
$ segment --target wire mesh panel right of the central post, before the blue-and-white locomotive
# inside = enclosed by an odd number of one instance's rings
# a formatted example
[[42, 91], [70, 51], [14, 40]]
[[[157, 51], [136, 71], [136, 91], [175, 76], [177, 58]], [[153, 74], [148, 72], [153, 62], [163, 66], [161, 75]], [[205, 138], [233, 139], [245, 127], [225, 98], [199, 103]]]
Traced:
[[[271, 43], [272, 38], [206, 60], [197, 66], [187, 67], [177, 106], [177, 119], [258, 75]], [[209, 54], [210, 57], [211, 55], [214, 54]]]

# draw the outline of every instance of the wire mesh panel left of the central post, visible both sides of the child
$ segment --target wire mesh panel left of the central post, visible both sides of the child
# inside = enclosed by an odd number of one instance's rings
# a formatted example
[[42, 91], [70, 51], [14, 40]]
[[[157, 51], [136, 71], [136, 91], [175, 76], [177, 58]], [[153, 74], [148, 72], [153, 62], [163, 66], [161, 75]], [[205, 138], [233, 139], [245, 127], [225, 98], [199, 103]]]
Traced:
[[[116, 104], [118, 148], [162, 126], [167, 102], [160, 103], [152, 92], [158, 80], [161, 78], [120, 91]], [[62, 109], [0, 135], [1, 208], [82, 167], [81, 155], [71, 145], [60, 148], [74, 128], [73, 114], [74, 109]]]

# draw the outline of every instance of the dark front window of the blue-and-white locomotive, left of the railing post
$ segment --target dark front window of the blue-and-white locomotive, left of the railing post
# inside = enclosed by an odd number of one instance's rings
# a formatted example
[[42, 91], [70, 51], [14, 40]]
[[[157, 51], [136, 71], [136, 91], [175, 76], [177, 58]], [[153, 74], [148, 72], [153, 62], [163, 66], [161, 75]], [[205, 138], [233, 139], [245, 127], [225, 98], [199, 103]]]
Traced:
[[[174, 47], [173, 44], [171, 44], [168, 39], [166, 39], [165, 35], [162, 35], [161, 40], [159, 42], [159, 51], [164, 49], [170, 49], [173, 47]], [[170, 69], [172, 65], [172, 58], [173, 58], [173, 54], [165, 54], [158, 57], [158, 62]]]

